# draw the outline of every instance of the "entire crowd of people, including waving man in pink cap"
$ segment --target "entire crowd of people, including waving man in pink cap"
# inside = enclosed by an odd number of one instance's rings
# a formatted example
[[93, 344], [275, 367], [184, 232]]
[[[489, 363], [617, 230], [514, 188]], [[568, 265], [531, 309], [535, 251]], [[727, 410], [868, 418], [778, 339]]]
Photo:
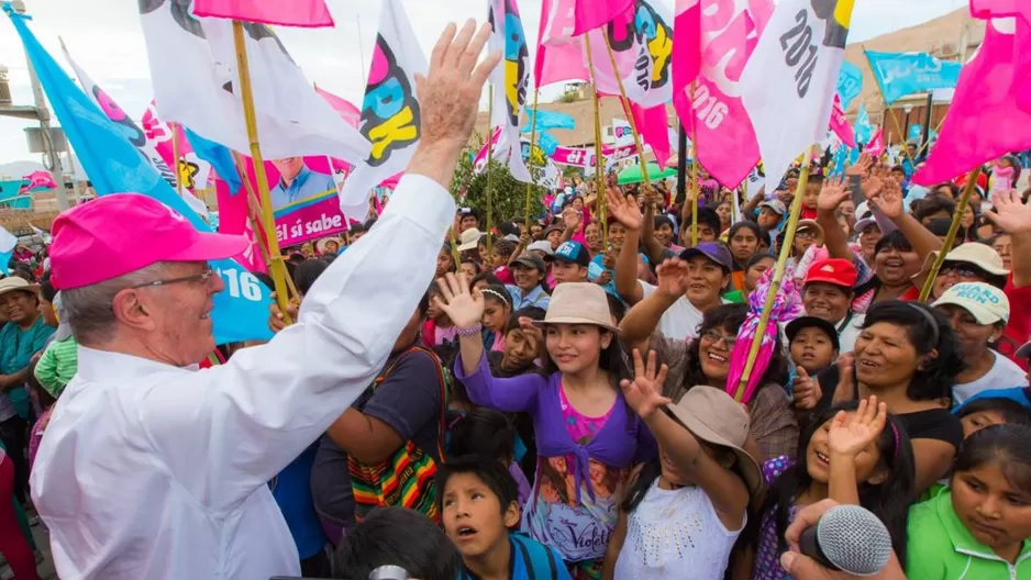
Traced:
[[[445, 31], [406, 177], [375, 223], [289, 257], [267, 343], [211, 335], [207, 260], [245, 241], [141, 196], [63, 214], [45, 267], [0, 280], [15, 578], [36, 578], [25, 509], [67, 578], [851, 578], [798, 553], [835, 504], [887, 528], [880, 578], [1031, 578], [1019, 163], [951, 247], [963, 183], [865, 155], [751, 199], [703, 171], [697, 201], [576, 180], [494, 225], [447, 193], [488, 33]], [[133, 244], [98, 263], [113, 224]]]

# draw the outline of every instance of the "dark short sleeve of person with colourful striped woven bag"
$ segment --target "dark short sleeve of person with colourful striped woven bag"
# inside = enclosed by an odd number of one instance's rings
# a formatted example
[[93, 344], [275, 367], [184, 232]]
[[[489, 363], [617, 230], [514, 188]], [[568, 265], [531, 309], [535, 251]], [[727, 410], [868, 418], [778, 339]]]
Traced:
[[414, 352], [402, 357], [362, 410], [409, 440], [441, 414], [441, 383], [436, 361]]

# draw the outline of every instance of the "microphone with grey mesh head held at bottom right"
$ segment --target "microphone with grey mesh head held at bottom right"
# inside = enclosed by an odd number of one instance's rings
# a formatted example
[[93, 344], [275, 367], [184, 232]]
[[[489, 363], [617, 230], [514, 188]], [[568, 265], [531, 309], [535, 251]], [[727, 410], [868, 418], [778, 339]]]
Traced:
[[891, 560], [891, 535], [879, 517], [858, 505], [836, 505], [809, 526], [799, 549], [827, 568], [873, 576]]

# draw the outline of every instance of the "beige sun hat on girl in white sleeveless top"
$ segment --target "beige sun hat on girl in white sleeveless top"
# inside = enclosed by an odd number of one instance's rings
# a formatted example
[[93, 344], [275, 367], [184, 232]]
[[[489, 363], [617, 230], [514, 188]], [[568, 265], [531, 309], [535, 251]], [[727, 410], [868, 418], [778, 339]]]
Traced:
[[666, 410], [695, 437], [734, 451], [752, 495], [763, 489], [763, 469], [744, 450], [750, 433], [749, 414], [731, 395], [720, 389], [698, 386], [684, 393], [676, 404], [666, 405]]

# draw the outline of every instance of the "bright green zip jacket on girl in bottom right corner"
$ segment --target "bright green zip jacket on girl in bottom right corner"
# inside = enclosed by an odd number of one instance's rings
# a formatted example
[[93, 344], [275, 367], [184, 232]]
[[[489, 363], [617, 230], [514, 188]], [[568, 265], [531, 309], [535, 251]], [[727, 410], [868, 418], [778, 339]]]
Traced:
[[1024, 539], [1016, 564], [978, 543], [952, 507], [952, 491], [909, 510], [909, 580], [1012, 580], [1031, 578], [1031, 539]]

